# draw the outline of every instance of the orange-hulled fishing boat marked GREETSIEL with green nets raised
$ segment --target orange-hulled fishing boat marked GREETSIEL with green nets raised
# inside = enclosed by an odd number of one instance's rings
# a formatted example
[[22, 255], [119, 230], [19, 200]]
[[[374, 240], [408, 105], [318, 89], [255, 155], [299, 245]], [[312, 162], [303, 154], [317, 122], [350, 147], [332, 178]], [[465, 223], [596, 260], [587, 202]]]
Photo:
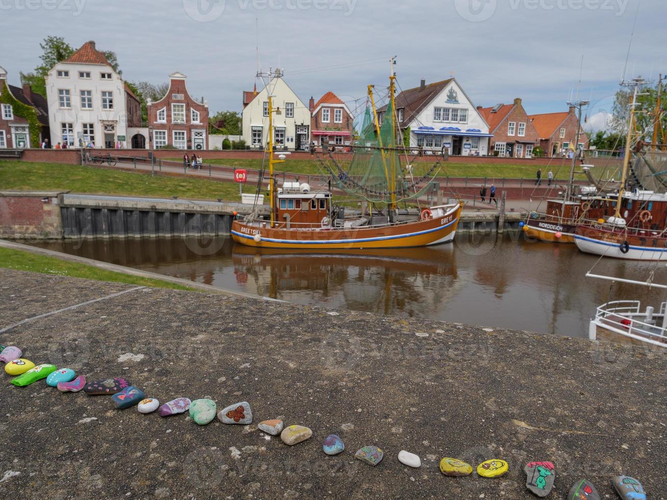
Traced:
[[[269, 87], [270, 79], [269, 73]], [[327, 157], [316, 158], [330, 180], [327, 187], [318, 189], [299, 182], [283, 182], [277, 186], [273, 167], [283, 163], [285, 156], [273, 151], [273, 114], [281, 111], [274, 107], [269, 88], [269, 135], [265, 155], [269, 167], [270, 217], [259, 217], [255, 211], [235, 219], [231, 227], [234, 241], [250, 247], [301, 250], [425, 247], [451, 242], [463, 203], [419, 205], [420, 197], [440, 169], [440, 160], [423, 175], [415, 177], [408, 151], [402, 147], [402, 141], [397, 140], [395, 86], [396, 75], [392, 69], [388, 108], [380, 125], [374, 86], [369, 85], [369, 105], [362, 132], [350, 146], [354, 150], [352, 161], [350, 165], [341, 165], [325, 144], [323, 151], [327, 149]], [[279, 158], [275, 159], [275, 155]], [[259, 177], [261, 182], [263, 173]], [[257, 194], [260, 189], [258, 184]], [[352, 197], [344, 200], [348, 205], [362, 205], [362, 213], [346, 215], [346, 205], [333, 201], [333, 189]], [[418, 207], [414, 217], [402, 217], [400, 213], [400, 203], [406, 207], [408, 202]], [[368, 211], [364, 207], [369, 207]]]

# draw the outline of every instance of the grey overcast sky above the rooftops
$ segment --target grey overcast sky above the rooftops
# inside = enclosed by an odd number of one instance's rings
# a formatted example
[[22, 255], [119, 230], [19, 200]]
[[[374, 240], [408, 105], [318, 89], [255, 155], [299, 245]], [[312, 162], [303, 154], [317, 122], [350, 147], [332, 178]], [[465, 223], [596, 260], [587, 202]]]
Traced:
[[404, 89], [453, 73], [476, 105], [522, 97], [528, 113], [548, 113], [576, 94], [583, 55], [580, 97], [593, 117], [611, 109], [638, 3], [628, 77], [657, 79], [667, 73], [665, 0], [0, 0], [0, 65], [18, 84], [45, 36], [95, 40], [128, 81], [181, 71], [211, 113], [240, 111], [259, 43], [261, 68], [283, 67], [306, 105], [329, 90], [354, 101], [369, 83], [386, 87], [396, 55]]

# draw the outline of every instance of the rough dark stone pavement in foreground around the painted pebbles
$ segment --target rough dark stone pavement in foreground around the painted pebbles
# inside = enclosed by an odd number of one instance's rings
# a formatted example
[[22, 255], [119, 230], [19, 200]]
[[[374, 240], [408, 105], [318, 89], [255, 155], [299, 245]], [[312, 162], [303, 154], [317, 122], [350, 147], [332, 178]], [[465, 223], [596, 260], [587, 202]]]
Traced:
[[[249, 401], [254, 421], [198, 427], [5, 383], [3, 498], [532, 499], [534, 460], [556, 463], [553, 499], [580, 477], [612, 498], [620, 473], [666, 496], [664, 353], [0, 270], [0, 329], [24, 319], [0, 342], [35, 363], [123, 376], [161, 402]], [[313, 437], [288, 447], [257, 431], [275, 417]], [[346, 443], [337, 457], [321, 451], [331, 433]], [[354, 459], [364, 445], [384, 449], [380, 465]], [[401, 465], [402, 449], [422, 467]], [[450, 479], [446, 456], [506, 459], [510, 472]]]

